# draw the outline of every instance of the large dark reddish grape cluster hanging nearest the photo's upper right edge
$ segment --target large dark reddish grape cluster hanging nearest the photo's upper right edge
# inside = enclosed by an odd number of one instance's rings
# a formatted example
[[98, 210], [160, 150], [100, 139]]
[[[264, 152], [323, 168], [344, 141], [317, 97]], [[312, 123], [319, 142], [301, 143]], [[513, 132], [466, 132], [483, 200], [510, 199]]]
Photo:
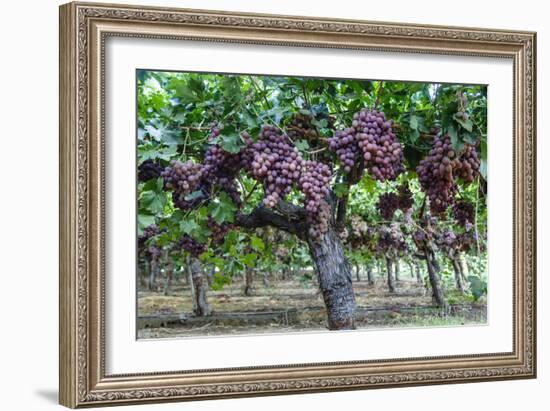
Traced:
[[442, 214], [454, 201], [455, 178], [472, 182], [479, 172], [479, 160], [474, 146], [467, 145], [459, 155], [448, 135], [436, 136], [428, 156], [416, 168], [420, 185], [430, 199], [430, 210]]

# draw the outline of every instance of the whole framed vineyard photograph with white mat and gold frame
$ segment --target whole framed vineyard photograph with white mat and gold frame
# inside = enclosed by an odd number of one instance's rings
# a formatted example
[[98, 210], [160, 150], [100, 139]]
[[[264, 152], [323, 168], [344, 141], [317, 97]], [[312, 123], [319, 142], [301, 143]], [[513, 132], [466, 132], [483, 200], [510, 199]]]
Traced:
[[60, 403], [536, 376], [536, 36], [60, 7]]

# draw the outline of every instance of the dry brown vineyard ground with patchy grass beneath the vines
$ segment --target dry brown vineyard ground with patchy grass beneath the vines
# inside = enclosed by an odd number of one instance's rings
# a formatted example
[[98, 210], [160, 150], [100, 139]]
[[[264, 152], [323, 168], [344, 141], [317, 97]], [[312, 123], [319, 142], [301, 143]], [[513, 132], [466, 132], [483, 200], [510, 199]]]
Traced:
[[[434, 308], [431, 296], [416, 281], [405, 278], [397, 292], [387, 291], [385, 280], [374, 285], [354, 283], [357, 328], [453, 326], [486, 323], [485, 302], [472, 304], [449, 291], [450, 312]], [[254, 284], [244, 296], [242, 284], [221, 291], [208, 290], [211, 317], [194, 317], [189, 286], [174, 284], [168, 295], [138, 292], [138, 338], [204, 335], [285, 333], [326, 330], [322, 297], [315, 284], [295, 281]]]

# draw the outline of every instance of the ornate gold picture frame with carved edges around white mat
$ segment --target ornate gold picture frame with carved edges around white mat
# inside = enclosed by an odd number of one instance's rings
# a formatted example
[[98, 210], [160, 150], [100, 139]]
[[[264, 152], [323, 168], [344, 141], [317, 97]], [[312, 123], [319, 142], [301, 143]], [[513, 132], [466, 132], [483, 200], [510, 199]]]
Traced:
[[[514, 64], [514, 350], [105, 375], [103, 61], [109, 36], [497, 56]], [[536, 35], [70, 3], [60, 8], [60, 403], [68, 407], [534, 378]], [[511, 159], [512, 160], [512, 159]]]

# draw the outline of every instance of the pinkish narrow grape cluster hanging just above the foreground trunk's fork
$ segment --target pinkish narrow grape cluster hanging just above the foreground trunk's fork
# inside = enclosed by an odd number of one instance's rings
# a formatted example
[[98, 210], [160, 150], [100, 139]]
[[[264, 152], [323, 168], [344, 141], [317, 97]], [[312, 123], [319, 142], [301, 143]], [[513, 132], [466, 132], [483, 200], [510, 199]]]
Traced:
[[332, 175], [330, 167], [317, 161], [306, 161], [299, 179], [299, 187], [305, 195], [306, 211], [315, 213], [321, 201], [329, 194]]

